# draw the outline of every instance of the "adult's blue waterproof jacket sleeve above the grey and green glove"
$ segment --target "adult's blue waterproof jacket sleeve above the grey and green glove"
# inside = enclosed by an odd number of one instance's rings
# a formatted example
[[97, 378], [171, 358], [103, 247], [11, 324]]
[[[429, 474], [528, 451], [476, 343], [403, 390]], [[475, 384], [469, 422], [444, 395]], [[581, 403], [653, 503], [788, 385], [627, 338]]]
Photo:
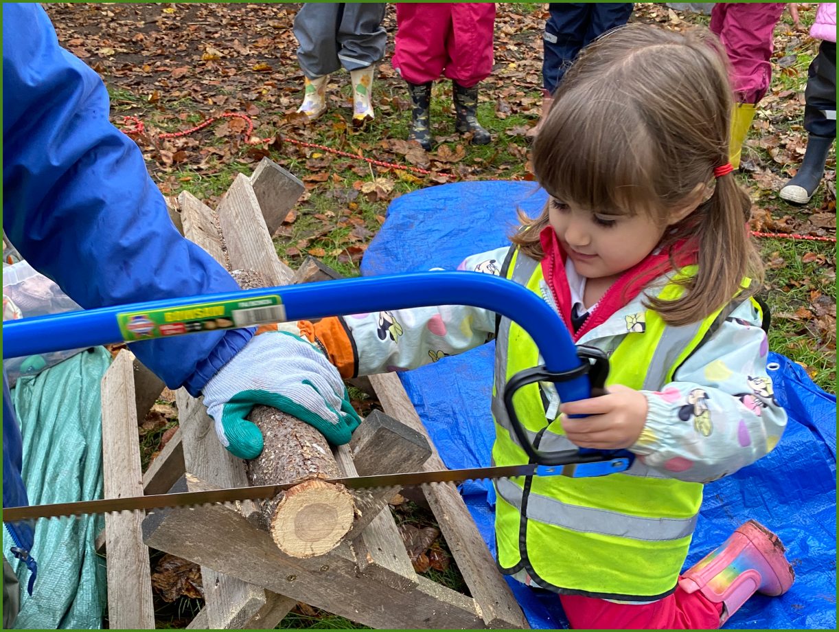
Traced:
[[[85, 308], [237, 290], [182, 238], [102, 80], [60, 48], [38, 4], [3, 5], [3, 229]], [[170, 388], [198, 394], [252, 330], [138, 342]]]

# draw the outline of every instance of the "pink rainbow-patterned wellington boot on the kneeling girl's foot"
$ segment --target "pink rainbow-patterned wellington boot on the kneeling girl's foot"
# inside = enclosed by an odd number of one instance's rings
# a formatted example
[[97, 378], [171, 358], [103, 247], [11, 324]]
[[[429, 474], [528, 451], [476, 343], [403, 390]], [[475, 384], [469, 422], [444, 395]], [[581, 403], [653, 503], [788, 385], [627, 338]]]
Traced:
[[795, 572], [784, 551], [777, 535], [749, 520], [685, 572], [679, 586], [686, 593], [698, 590], [712, 602], [722, 602], [722, 625], [754, 593], [778, 596], [789, 590]]

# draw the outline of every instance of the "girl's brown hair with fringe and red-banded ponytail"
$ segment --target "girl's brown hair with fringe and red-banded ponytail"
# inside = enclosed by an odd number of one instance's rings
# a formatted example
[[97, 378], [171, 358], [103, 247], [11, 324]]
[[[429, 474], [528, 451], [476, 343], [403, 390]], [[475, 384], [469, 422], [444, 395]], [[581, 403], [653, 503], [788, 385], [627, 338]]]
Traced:
[[[727, 163], [731, 112], [725, 57], [708, 31], [629, 24], [587, 46], [565, 73], [534, 144], [534, 172], [560, 201], [610, 214], [645, 212], [664, 225], [696, 185], [712, 181], [714, 167]], [[744, 276], [763, 278], [745, 226], [748, 195], [732, 174], [713, 186], [713, 195], [659, 243], [668, 252], [688, 239], [699, 251], [698, 272], [682, 283], [680, 299], [648, 299], [671, 325], [725, 305]], [[513, 243], [541, 259], [547, 206], [535, 220], [520, 219]]]

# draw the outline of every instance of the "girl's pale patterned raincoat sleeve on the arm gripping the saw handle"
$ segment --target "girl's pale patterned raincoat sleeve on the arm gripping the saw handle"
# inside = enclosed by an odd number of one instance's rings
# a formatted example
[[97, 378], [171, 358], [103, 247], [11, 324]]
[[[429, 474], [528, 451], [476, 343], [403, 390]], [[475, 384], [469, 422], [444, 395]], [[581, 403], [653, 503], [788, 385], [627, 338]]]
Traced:
[[630, 448], [672, 478], [709, 483], [777, 445], [787, 415], [766, 368], [769, 342], [751, 301], [732, 311], [674, 381], [647, 398], [647, 425]]

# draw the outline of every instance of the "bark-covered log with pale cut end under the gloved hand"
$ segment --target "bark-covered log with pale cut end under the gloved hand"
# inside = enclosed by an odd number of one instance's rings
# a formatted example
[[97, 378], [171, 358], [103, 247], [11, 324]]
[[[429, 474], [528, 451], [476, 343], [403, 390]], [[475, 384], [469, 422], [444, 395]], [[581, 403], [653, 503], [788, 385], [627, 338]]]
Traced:
[[322, 482], [341, 476], [329, 443], [314, 427], [268, 406], [255, 407], [248, 419], [264, 440], [262, 454], [248, 462], [250, 483], [301, 482], [262, 502], [274, 542], [294, 557], [331, 551], [352, 528], [355, 505], [342, 485]]

